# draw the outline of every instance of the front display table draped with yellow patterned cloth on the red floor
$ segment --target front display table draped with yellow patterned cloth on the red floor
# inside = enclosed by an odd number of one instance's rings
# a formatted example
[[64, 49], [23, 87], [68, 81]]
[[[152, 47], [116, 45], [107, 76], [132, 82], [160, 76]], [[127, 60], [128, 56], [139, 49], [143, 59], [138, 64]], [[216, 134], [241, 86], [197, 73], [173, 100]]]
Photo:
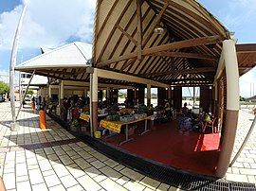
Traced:
[[143, 121], [143, 120], [145, 121], [145, 129], [140, 134], [140, 135], [142, 135], [142, 134], [150, 131], [150, 130], [148, 130], [148, 120], [154, 120], [154, 116], [146, 116], [146, 117], [139, 118], [139, 119], [136, 119], [136, 120], [133, 120], [133, 121], [129, 121], [129, 122], [101, 120], [100, 127], [104, 128], [104, 129], [107, 129], [107, 130], [112, 130], [112, 131], [114, 131], [116, 133], [119, 133], [120, 130], [121, 130], [121, 127], [125, 126], [125, 140], [119, 143], [119, 146], [120, 146], [120, 145], [122, 145], [124, 143], [127, 143], [127, 142], [133, 140], [133, 138], [129, 138], [129, 133], [128, 133], [129, 125], [137, 123], [139, 121]]

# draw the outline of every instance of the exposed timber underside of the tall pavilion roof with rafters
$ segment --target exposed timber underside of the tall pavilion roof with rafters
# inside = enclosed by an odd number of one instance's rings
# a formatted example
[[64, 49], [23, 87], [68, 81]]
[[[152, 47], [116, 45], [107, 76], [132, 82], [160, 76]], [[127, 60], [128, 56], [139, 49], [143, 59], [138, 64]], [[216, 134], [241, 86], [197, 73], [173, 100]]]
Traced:
[[222, 41], [230, 39], [191, 0], [98, 0], [94, 29], [94, 67], [172, 85], [211, 84]]

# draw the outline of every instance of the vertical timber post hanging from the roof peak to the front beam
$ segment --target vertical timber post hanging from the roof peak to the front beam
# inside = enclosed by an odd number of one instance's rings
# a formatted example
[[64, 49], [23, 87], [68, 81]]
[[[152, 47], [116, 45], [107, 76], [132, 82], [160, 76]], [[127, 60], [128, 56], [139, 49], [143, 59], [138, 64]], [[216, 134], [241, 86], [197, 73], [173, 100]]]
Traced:
[[136, 0], [137, 2], [137, 60], [142, 60], [142, 13], [141, 5], [143, 0]]

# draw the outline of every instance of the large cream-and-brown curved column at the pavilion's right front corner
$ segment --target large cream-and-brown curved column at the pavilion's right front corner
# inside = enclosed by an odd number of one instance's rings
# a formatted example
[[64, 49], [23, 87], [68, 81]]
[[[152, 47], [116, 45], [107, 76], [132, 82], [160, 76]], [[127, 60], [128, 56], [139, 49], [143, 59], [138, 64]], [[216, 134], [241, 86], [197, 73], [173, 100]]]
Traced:
[[223, 42], [223, 53], [227, 78], [227, 111], [220, 145], [221, 151], [216, 167], [217, 177], [224, 177], [228, 170], [235, 141], [239, 111], [239, 72], [234, 40]]

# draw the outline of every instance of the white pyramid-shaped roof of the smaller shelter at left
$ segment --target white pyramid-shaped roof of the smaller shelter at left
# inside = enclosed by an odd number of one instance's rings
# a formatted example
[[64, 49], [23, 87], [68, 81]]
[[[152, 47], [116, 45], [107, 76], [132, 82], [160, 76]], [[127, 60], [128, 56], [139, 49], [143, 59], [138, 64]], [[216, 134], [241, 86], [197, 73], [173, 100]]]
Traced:
[[49, 78], [82, 80], [87, 78], [85, 69], [90, 66], [91, 52], [89, 43], [69, 43], [24, 61], [15, 69], [27, 73], [36, 70], [35, 74]]

